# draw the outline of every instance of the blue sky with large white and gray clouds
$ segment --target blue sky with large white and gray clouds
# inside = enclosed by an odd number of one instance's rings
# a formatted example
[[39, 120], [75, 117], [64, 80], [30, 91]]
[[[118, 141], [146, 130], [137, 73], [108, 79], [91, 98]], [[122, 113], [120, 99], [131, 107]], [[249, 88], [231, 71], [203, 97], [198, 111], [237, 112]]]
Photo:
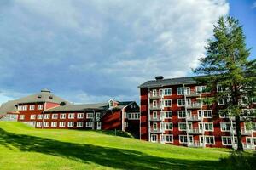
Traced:
[[1, 0], [0, 103], [49, 88], [74, 103], [139, 100], [138, 85], [191, 75], [219, 16], [256, 56], [256, 1]]

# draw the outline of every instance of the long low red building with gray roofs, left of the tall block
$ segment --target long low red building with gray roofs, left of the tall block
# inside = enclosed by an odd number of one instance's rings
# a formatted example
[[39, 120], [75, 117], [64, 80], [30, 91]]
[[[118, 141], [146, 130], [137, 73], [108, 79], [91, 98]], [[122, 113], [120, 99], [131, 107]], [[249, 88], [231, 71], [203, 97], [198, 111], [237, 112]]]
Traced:
[[135, 101], [73, 105], [48, 89], [9, 101], [0, 120], [17, 120], [36, 128], [122, 130], [139, 136], [139, 106]]

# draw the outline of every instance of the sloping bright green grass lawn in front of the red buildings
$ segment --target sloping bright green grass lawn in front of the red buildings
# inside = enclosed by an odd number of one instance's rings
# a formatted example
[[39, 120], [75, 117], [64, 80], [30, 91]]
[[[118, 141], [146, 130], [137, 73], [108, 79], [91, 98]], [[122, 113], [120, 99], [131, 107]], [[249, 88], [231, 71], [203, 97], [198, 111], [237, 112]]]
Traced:
[[0, 122], [0, 169], [225, 169], [218, 160], [227, 156], [230, 150]]

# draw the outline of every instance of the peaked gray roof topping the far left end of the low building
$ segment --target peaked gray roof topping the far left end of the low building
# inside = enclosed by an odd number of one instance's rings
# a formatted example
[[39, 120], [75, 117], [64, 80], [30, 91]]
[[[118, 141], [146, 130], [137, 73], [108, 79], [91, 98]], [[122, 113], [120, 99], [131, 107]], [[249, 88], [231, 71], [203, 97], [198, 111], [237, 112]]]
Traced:
[[61, 102], [66, 102], [67, 104], [70, 104], [67, 100], [61, 99], [55, 94], [50, 93], [50, 91], [45, 88], [42, 89], [41, 92], [38, 94], [32, 94], [17, 100], [18, 100], [18, 104], [38, 103], [38, 102], [52, 102], [52, 103], [58, 103], [58, 104], [60, 104]]

